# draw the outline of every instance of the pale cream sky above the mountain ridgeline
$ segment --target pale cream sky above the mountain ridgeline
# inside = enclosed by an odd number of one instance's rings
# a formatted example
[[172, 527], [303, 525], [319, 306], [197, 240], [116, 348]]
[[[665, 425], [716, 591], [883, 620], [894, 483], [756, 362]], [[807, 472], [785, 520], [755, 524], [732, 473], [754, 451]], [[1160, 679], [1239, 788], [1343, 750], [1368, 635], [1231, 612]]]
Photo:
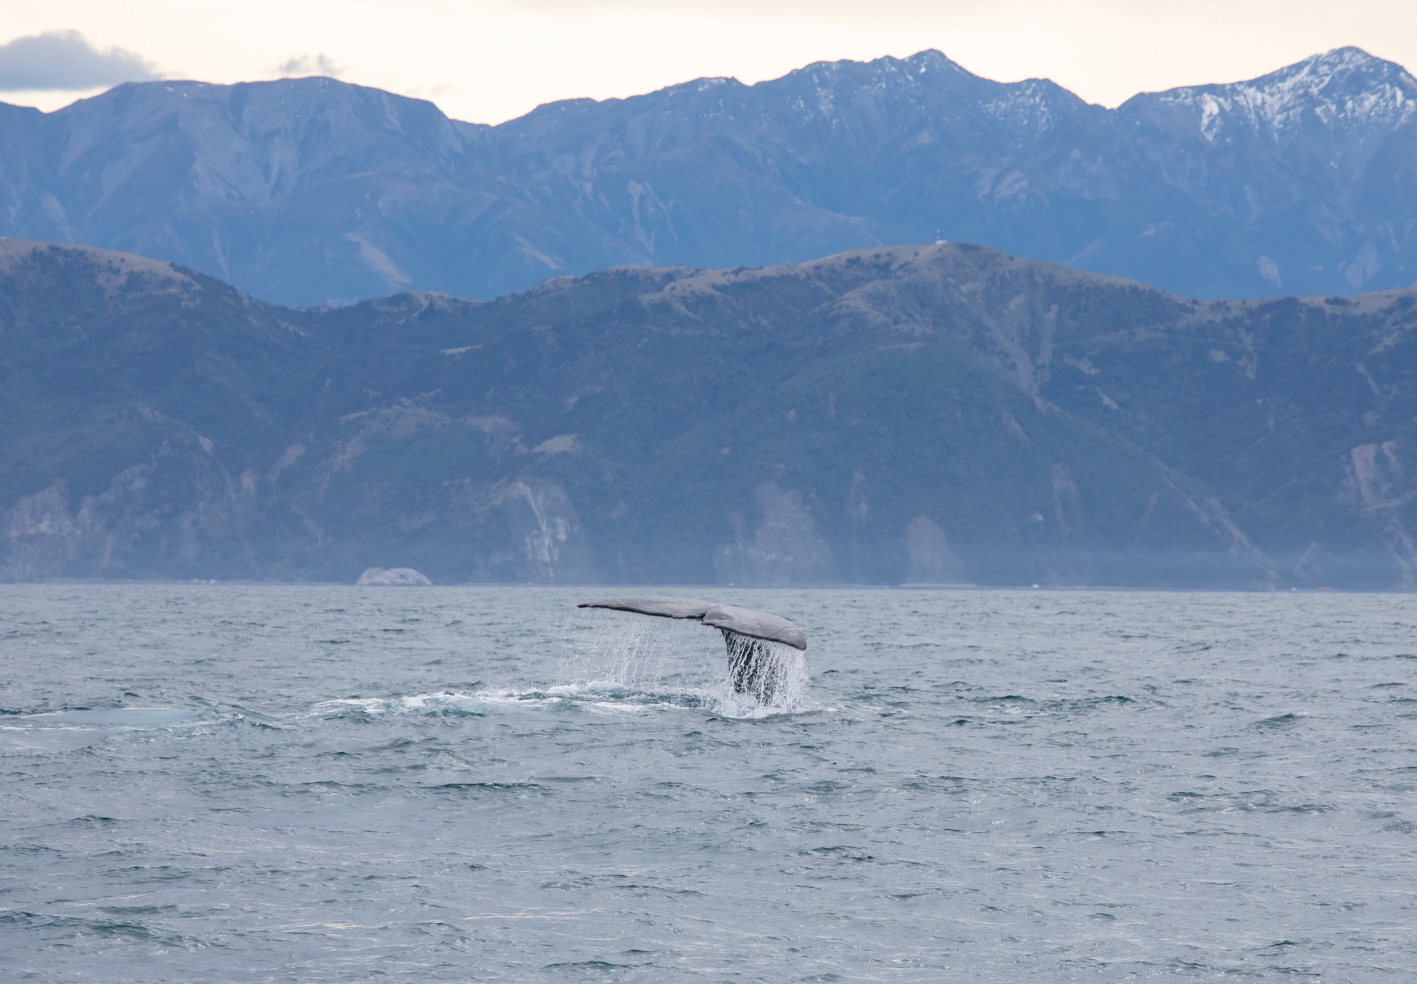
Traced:
[[[497, 123], [554, 99], [703, 75], [757, 82], [922, 48], [986, 78], [1051, 78], [1107, 106], [1349, 44], [1417, 68], [1413, 0], [0, 0], [0, 45], [21, 40], [0, 47], [0, 101], [44, 110], [101, 92], [105, 71], [336, 74]], [[55, 88], [65, 79], [82, 88]]]

